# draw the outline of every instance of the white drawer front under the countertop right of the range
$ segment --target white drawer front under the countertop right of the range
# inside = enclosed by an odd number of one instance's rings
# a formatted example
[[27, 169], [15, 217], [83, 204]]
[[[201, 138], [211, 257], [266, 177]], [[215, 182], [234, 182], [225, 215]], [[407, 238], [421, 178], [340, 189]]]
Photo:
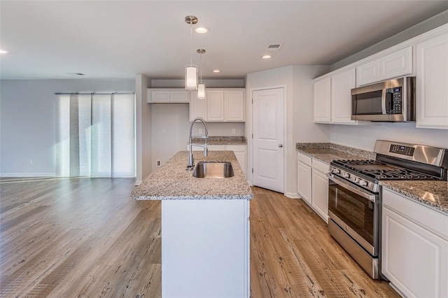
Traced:
[[396, 192], [383, 188], [383, 206], [405, 216], [448, 240], [448, 215], [432, 210]]

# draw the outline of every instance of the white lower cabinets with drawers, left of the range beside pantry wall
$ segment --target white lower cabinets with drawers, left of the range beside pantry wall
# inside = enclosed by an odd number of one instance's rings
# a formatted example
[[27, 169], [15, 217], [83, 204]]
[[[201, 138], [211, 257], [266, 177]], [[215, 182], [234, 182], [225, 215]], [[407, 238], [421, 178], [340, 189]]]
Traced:
[[328, 222], [328, 164], [297, 152], [297, 192]]

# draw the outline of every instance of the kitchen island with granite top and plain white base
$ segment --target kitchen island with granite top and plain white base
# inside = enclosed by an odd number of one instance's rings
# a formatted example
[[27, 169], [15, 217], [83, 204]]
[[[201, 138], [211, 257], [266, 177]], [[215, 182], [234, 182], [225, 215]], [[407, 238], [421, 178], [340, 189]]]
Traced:
[[232, 151], [193, 156], [230, 162], [235, 176], [195, 178], [181, 151], [131, 193], [162, 200], [162, 297], [249, 297], [251, 187]]

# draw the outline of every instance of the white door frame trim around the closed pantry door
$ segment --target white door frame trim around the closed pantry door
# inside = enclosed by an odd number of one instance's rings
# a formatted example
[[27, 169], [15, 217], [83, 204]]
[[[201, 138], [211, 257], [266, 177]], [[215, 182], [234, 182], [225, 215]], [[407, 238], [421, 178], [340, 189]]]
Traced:
[[254, 87], [250, 89], [250, 92], [248, 92], [247, 95], [247, 120], [246, 121], [246, 136], [247, 136], [247, 145], [248, 145], [248, 183], [250, 185], [253, 185], [253, 104], [252, 104], [252, 94], [254, 91], [261, 91], [261, 90], [269, 90], [269, 89], [279, 89], [283, 88], [283, 194], [286, 193], [287, 185], [286, 181], [288, 180], [286, 178], [286, 173], [288, 173], [288, 163], [286, 162], [288, 160], [288, 126], [287, 126], [287, 114], [286, 114], [286, 106], [288, 106], [288, 92], [286, 90], [286, 84], [282, 85], [270, 85], [270, 86], [263, 86], [263, 87]]

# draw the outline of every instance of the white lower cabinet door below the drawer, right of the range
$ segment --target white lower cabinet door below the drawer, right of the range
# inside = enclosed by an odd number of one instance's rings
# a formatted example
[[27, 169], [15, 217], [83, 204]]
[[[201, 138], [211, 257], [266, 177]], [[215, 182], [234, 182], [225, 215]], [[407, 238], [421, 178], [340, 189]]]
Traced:
[[381, 272], [406, 297], [448, 297], [447, 240], [383, 207], [381, 254]]

